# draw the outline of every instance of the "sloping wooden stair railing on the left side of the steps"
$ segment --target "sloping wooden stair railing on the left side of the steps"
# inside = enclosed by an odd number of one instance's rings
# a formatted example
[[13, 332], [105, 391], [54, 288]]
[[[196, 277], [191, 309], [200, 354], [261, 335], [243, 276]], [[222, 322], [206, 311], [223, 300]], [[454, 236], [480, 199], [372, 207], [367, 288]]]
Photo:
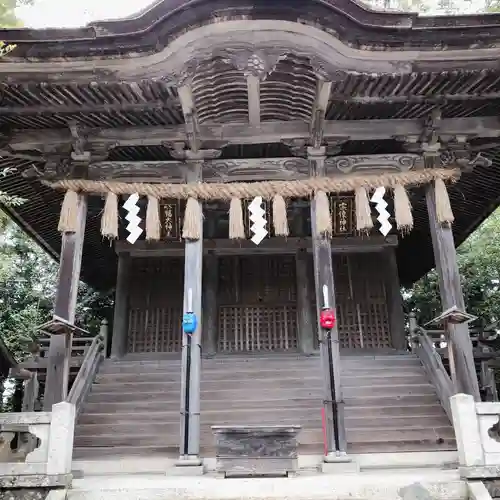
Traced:
[[68, 403], [75, 405], [77, 415], [80, 413], [83, 403], [90, 392], [90, 388], [99, 371], [99, 366], [106, 357], [107, 329], [108, 324], [106, 321], [103, 321], [99, 335], [93, 338], [92, 343], [85, 351], [80, 370], [66, 398]]

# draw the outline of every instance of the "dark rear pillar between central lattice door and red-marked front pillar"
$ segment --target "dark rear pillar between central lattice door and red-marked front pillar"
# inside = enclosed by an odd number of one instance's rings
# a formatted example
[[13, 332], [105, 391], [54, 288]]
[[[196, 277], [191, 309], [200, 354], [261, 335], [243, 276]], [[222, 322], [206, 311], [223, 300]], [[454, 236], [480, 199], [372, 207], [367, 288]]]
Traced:
[[295, 256], [297, 274], [297, 326], [299, 349], [304, 354], [314, 352], [314, 328], [311, 310], [312, 286], [309, 279], [309, 255], [300, 249]]

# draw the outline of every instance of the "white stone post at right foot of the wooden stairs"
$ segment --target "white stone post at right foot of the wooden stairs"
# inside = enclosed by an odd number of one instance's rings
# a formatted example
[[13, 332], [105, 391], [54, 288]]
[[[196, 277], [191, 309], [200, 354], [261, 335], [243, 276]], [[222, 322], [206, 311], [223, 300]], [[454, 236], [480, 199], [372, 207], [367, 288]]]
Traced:
[[455, 394], [450, 398], [453, 427], [461, 467], [484, 466], [484, 453], [474, 397]]

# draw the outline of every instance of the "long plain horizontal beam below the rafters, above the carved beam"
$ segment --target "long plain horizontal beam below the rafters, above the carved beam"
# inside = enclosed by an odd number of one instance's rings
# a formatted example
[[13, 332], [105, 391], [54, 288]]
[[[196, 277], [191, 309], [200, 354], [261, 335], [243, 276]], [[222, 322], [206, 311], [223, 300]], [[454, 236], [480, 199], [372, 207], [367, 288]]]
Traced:
[[[187, 98], [185, 97], [186, 101]], [[184, 105], [186, 110], [189, 109]], [[194, 125], [193, 125], [194, 126]], [[325, 140], [384, 140], [419, 137], [424, 120], [332, 120], [324, 123]], [[195, 127], [196, 129], [196, 127]], [[292, 139], [309, 141], [311, 125], [304, 121], [263, 122], [258, 127], [248, 123], [203, 123], [197, 126], [197, 138], [201, 143], [260, 144], [282, 142]], [[496, 116], [445, 118], [438, 133], [444, 138], [456, 135], [471, 137], [500, 137], [500, 120]], [[88, 128], [85, 130], [87, 144], [93, 147], [161, 145], [165, 142], [186, 140], [186, 125], [171, 127], [125, 127]], [[446, 142], [446, 141], [444, 141]], [[68, 130], [23, 130], [14, 132], [9, 145], [15, 150], [43, 149], [44, 147], [67, 146], [71, 143]]]

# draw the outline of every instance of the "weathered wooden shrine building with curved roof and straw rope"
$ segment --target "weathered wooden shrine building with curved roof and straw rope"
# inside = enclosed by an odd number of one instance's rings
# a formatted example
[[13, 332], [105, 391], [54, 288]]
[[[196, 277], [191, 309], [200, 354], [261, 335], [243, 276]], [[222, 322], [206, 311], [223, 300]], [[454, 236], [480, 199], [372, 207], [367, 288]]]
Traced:
[[0, 189], [25, 200], [5, 210], [60, 259], [57, 318], [80, 277], [116, 289], [76, 453], [196, 462], [211, 426], [251, 423], [301, 425], [302, 453], [454, 449], [400, 285], [436, 264], [443, 310], [464, 308], [455, 247], [499, 202], [500, 15], [159, 0], [1, 39]]

